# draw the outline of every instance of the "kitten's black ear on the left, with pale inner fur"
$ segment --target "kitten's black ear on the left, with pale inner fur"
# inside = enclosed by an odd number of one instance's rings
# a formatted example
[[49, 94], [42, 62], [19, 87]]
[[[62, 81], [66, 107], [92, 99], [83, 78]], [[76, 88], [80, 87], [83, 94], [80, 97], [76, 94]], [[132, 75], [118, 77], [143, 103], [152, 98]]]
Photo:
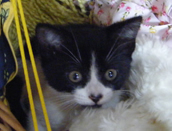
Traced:
[[36, 38], [40, 47], [59, 48], [62, 43], [62, 37], [56, 27], [49, 24], [38, 24], [36, 27]]

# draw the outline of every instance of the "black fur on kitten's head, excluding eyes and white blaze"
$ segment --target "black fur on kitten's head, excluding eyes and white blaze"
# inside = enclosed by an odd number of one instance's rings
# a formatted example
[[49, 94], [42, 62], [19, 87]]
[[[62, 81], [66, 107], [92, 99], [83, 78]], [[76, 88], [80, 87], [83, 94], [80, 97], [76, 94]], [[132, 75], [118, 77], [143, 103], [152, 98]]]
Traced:
[[[99, 79], [114, 90], [119, 90], [129, 74], [131, 55], [135, 49], [135, 38], [141, 20], [141, 17], [136, 17], [104, 28], [95, 25], [39, 24], [35, 41], [49, 84], [62, 92], [72, 92], [78, 85], [83, 87], [90, 79], [89, 70], [94, 52]], [[106, 58], [109, 52], [112, 56]], [[108, 69], [118, 71], [114, 81], [104, 78]], [[68, 79], [71, 71], [81, 72], [82, 81], [71, 82]]]

